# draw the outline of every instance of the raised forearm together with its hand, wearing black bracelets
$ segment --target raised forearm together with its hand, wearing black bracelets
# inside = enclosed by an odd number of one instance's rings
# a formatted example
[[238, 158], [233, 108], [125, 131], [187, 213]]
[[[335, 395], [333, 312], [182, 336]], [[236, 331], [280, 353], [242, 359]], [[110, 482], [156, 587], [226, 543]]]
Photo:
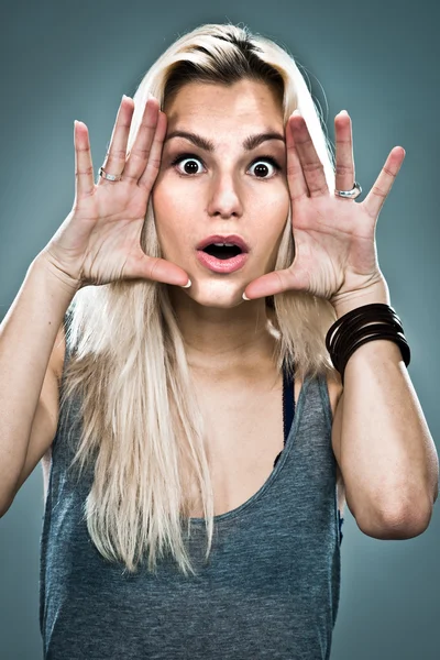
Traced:
[[[371, 302], [389, 305], [377, 262], [381, 209], [405, 158], [389, 152], [373, 187], [355, 202], [351, 118], [334, 118], [334, 189], [298, 109], [286, 124], [287, 183], [295, 241], [293, 263], [257, 277], [248, 300], [282, 292], [307, 292], [329, 300], [338, 318]], [[351, 199], [340, 191], [354, 190]], [[243, 294], [243, 295], [244, 295]], [[439, 462], [400, 350], [389, 340], [363, 344], [350, 358], [334, 414], [333, 452], [346, 503], [365, 534], [410, 538], [429, 524], [438, 492]]]

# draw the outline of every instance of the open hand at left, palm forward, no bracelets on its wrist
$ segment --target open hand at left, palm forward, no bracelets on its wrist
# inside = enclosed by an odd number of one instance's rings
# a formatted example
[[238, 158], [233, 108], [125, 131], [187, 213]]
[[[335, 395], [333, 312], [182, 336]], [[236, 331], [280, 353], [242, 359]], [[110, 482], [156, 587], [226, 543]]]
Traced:
[[[103, 164], [119, 182], [94, 179], [88, 129], [75, 122], [75, 201], [70, 213], [40, 254], [75, 288], [119, 279], [146, 278], [185, 286], [187, 273], [141, 248], [150, 194], [157, 177], [166, 114], [150, 98], [133, 147], [127, 156], [134, 101], [123, 97]], [[38, 256], [40, 256], [38, 255]]]

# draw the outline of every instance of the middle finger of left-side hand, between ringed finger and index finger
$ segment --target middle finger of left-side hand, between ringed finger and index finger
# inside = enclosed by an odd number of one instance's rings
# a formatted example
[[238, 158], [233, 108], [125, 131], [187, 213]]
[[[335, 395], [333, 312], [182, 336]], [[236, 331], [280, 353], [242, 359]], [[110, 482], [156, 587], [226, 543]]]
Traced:
[[148, 162], [154, 134], [158, 120], [158, 101], [154, 97], [148, 98], [145, 103], [141, 125], [138, 129], [133, 146], [127, 158], [124, 179], [133, 179], [136, 184], [142, 177]]

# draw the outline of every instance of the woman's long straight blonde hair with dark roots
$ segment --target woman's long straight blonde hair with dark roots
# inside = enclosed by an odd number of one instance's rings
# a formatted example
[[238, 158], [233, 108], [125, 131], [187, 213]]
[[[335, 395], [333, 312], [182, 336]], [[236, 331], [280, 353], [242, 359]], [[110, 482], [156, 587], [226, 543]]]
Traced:
[[[134, 95], [130, 151], [148, 92], [165, 101], [188, 81], [230, 85], [261, 80], [279, 95], [284, 121], [299, 108], [323, 164], [330, 189], [334, 167], [330, 143], [311, 94], [293, 56], [273, 41], [232, 24], [205, 24], [173, 43], [143, 77]], [[292, 264], [295, 245], [287, 218], [276, 270]], [[162, 256], [151, 200], [141, 244]], [[328, 300], [306, 293], [274, 296], [277, 367], [302, 378], [334, 377], [324, 337], [336, 320]], [[201, 507], [208, 559], [213, 535], [213, 494], [202, 417], [168, 286], [119, 280], [88, 286], [68, 309], [62, 408], [80, 394], [81, 437], [72, 468], [94, 466], [84, 506], [92, 542], [124, 572], [135, 572], [145, 552], [155, 572], [165, 552], [179, 570], [195, 574], [183, 535], [189, 512]], [[72, 403], [72, 402], [70, 402]]]

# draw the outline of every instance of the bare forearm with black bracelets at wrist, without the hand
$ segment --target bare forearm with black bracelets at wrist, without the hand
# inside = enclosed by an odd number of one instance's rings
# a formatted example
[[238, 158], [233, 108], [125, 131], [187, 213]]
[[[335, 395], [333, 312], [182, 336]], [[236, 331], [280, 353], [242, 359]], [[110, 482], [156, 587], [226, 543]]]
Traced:
[[[391, 304], [385, 282], [341, 301], [337, 316], [371, 302]], [[346, 503], [364, 534], [405, 539], [425, 531], [438, 495], [439, 461], [394, 342], [365, 343], [350, 358], [332, 444]]]

